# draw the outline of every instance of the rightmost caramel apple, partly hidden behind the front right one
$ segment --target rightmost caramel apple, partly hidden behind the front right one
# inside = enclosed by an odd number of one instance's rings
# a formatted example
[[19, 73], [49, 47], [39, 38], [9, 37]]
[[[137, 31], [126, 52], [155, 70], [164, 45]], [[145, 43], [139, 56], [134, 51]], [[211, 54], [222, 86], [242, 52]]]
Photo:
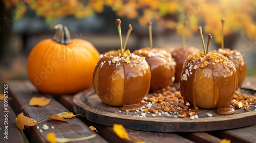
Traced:
[[237, 50], [230, 50], [230, 49], [224, 49], [224, 36], [223, 36], [223, 27], [224, 27], [224, 20], [221, 20], [222, 22], [222, 42], [221, 42], [221, 49], [212, 51], [213, 53], [219, 53], [227, 57], [230, 61], [234, 63], [234, 66], [237, 69], [237, 75], [238, 75], [238, 87], [241, 87], [244, 83], [245, 77], [246, 77], [246, 61], [244, 59], [244, 56], [238, 52]]

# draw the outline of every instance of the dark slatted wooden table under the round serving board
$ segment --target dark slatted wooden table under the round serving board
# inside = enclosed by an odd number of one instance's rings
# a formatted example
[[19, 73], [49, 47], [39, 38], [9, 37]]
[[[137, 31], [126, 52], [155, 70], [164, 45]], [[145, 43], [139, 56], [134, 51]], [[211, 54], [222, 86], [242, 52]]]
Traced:
[[[27, 142], [24, 139], [22, 132], [16, 128], [15, 118], [16, 116], [24, 112], [24, 115], [35, 118], [37, 121], [42, 121], [46, 117], [59, 112], [71, 111], [73, 112], [73, 96], [74, 95], [62, 95], [59, 97], [52, 97], [47, 94], [42, 94], [36, 90], [36, 88], [29, 81], [6, 81], [8, 85], [8, 139], [4, 138], [4, 121], [5, 116], [1, 115], [1, 138], [0, 142]], [[244, 82], [244, 87], [256, 88], [256, 78], [247, 77]], [[24, 109], [20, 109], [23, 105], [29, 103], [32, 97], [44, 96], [51, 98], [49, 105], [45, 107], [28, 106]], [[4, 101], [0, 102], [1, 113], [4, 114]], [[256, 119], [255, 119], [256, 120]], [[209, 131], [209, 132], [146, 132], [126, 129], [129, 137], [132, 141], [122, 139], [118, 137], [113, 131], [112, 127], [103, 126], [97, 123], [90, 122], [86, 118], [73, 117], [67, 119], [68, 123], [60, 121], [46, 121], [39, 123], [39, 128], [46, 124], [50, 127], [49, 130], [43, 130], [42, 132], [37, 129], [37, 125], [28, 127], [24, 130], [24, 134], [29, 142], [47, 142], [46, 134], [54, 132], [57, 137], [84, 137], [95, 134], [96, 137], [87, 140], [87, 142], [220, 142], [223, 138], [230, 139], [231, 142], [255, 142], [256, 141], [256, 124], [221, 131]], [[245, 121], [246, 122], [246, 121]], [[236, 124], [236, 123], [233, 123]], [[54, 129], [51, 128], [54, 127]], [[97, 132], [92, 131], [89, 127], [94, 126], [97, 128]], [[77, 142], [84, 142], [77, 141]]]

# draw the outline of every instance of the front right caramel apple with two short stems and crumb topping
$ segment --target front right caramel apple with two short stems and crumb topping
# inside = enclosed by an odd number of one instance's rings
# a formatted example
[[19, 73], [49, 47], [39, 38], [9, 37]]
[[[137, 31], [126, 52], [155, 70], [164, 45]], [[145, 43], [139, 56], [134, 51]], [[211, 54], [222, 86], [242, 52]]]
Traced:
[[181, 73], [181, 96], [193, 111], [217, 108], [217, 114], [233, 114], [230, 103], [238, 85], [236, 67], [221, 54], [207, 54], [201, 26], [198, 29], [204, 53], [190, 55], [185, 60]]

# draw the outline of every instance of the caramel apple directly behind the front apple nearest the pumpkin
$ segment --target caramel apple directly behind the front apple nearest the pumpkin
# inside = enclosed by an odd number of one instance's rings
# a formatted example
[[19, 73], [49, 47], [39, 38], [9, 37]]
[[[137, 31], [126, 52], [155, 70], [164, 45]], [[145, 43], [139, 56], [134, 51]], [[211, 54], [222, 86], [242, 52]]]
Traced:
[[151, 85], [150, 92], [161, 90], [172, 86], [175, 80], [175, 66], [176, 62], [172, 58], [170, 53], [167, 53], [164, 49], [154, 47], [152, 48], [152, 23], [148, 23], [150, 31], [150, 45], [151, 47], [144, 47], [140, 50], [135, 50], [135, 55], [145, 57], [148, 65], [151, 69]]

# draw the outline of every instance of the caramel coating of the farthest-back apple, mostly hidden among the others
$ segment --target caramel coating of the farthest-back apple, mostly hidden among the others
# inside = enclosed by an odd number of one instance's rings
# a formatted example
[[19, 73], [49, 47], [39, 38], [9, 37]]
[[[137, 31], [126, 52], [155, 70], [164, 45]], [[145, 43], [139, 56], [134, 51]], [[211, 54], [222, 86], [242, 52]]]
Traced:
[[191, 54], [199, 53], [200, 51], [196, 47], [178, 47], [170, 52], [174, 61], [176, 62], [175, 67], [175, 82], [180, 82], [181, 71], [183, 68], [184, 61]]

